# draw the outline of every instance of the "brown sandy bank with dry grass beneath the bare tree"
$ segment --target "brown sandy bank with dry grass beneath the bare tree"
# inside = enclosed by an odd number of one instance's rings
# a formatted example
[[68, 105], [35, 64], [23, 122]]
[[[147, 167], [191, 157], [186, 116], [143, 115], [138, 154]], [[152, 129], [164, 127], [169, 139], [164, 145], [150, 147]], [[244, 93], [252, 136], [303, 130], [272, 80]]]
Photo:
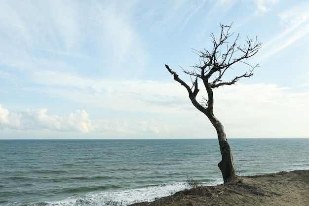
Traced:
[[237, 176], [230, 183], [131, 206], [309, 206], [309, 170]]

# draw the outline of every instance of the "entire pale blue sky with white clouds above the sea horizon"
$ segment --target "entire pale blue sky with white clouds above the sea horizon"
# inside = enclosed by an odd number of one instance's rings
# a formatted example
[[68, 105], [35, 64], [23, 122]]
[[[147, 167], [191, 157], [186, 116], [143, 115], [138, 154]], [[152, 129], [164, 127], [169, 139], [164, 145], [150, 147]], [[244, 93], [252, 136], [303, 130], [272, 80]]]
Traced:
[[309, 137], [308, 0], [0, 0], [0, 139], [217, 138], [164, 64], [190, 84], [220, 24], [263, 43], [214, 89], [228, 139]]

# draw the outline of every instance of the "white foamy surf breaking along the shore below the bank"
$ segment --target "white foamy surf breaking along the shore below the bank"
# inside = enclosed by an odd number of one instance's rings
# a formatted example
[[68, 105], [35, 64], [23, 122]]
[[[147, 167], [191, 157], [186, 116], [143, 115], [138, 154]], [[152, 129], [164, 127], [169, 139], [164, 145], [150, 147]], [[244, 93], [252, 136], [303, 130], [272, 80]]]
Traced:
[[[201, 183], [205, 186], [221, 184], [221, 179], [203, 179]], [[68, 189], [68, 191], [59, 190], [59, 194], [70, 192], [84, 193], [85, 195], [75, 195], [58, 201], [40, 201], [31, 204], [8, 203], [3, 201], [0, 206], [127, 206], [138, 202], [152, 202], [161, 197], [172, 195], [178, 191], [189, 188], [184, 182], [166, 183], [159, 185], [150, 185], [134, 189], [118, 190], [114, 192], [95, 192], [106, 189], [104, 186], [98, 187], [78, 187]], [[115, 186], [114, 189], [117, 189]], [[89, 192], [91, 191], [91, 192]]]

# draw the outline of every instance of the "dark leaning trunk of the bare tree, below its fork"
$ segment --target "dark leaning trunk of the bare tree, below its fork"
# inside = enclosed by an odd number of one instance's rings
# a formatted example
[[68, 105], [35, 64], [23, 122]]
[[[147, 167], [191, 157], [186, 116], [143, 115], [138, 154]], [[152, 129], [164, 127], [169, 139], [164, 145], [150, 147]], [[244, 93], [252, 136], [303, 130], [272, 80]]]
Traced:
[[222, 156], [222, 161], [218, 164], [218, 166], [221, 170], [223, 181], [224, 183], [230, 182], [235, 176], [235, 171], [232, 151], [224, 132], [224, 127], [213, 114], [208, 114], [207, 117], [217, 130], [220, 152]]

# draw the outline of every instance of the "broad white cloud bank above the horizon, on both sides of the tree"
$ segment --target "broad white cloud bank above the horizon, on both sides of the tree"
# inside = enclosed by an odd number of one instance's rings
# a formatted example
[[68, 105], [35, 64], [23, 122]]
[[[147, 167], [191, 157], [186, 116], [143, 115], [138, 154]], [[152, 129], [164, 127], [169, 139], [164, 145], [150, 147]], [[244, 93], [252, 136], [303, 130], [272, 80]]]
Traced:
[[[157, 85], [161, 92], [156, 93], [149, 88]], [[144, 89], [140, 93], [131, 92], [136, 87]], [[86, 89], [85, 87], [84, 89]], [[158, 83], [158, 82], [138, 82], [137, 84], [122, 82], [121, 88], [125, 88], [119, 99], [111, 104], [101, 102], [101, 109], [109, 109], [122, 112], [121, 102], [126, 102], [127, 112], [151, 113], [152, 119], [138, 117], [137, 119], [111, 118], [104, 119], [89, 114], [84, 109], [78, 109], [68, 114], [48, 114], [46, 108], [26, 109], [23, 112], [8, 111], [5, 106], [0, 105], [0, 128], [2, 131], [10, 130], [51, 130], [65, 132], [81, 132], [95, 134], [96, 132], [120, 132], [123, 137], [134, 134], [154, 134], [160, 138], [174, 134], [176, 137], [181, 133], [194, 133], [195, 138], [203, 138], [203, 135], [213, 134], [213, 128], [209, 121], [187, 98], [186, 91], [177, 83]], [[165, 89], [164, 88], [168, 88]], [[102, 88], [98, 89], [101, 91]], [[113, 93], [111, 90], [110, 92]], [[202, 91], [201, 91], [202, 92]], [[265, 134], [276, 136], [276, 130], [286, 130], [286, 137], [298, 136], [305, 137], [307, 125], [299, 119], [306, 118], [308, 112], [304, 111], [306, 102], [309, 101], [309, 94], [304, 92], [294, 92], [287, 87], [278, 87], [274, 84], [239, 84], [229, 87], [216, 89], [214, 113], [223, 123], [228, 133], [232, 137], [259, 137]], [[66, 92], [64, 92], [64, 96]], [[84, 94], [74, 93], [78, 97]], [[96, 103], [100, 100], [111, 98], [108, 93], [97, 92]], [[107, 97], [108, 96], [108, 97]], [[138, 98], [137, 98], [138, 97]], [[87, 99], [74, 98], [70, 99]], [[121, 102], [119, 102], [121, 99]], [[88, 98], [87, 104], [96, 104]], [[303, 102], [303, 104], [301, 102]], [[117, 104], [118, 102], [118, 104]], [[138, 106], [136, 106], [138, 105]], [[294, 105], [298, 105], [295, 107]], [[99, 105], [96, 105], [97, 109]], [[172, 116], [172, 119], [162, 119], [163, 115]], [[174, 118], [178, 119], [177, 121]], [[173, 121], [173, 122], [171, 122]], [[238, 129], [234, 126], [237, 124]], [[239, 127], [242, 129], [239, 130]], [[246, 128], [255, 128], [249, 131]], [[298, 130], [295, 131], [295, 128]], [[91, 135], [90, 135], [91, 136]], [[173, 136], [174, 137], [174, 136]], [[179, 136], [185, 138], [184, 136]]]

